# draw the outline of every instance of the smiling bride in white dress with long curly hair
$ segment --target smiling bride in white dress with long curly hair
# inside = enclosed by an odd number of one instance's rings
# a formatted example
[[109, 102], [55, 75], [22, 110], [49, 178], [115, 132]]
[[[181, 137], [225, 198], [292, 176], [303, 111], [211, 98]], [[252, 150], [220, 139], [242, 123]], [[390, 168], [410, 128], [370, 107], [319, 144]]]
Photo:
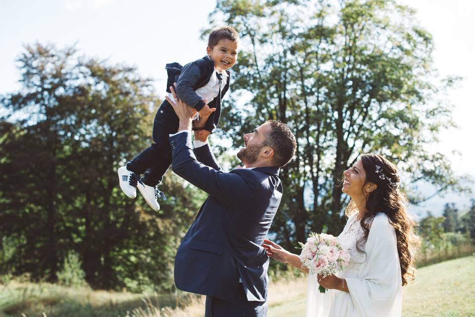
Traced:
[[[379, 155], [364, 154], [343, 175], [342, 192], [351, 200], [338, 241], [351, 259], [336, 276], [309, 275], [306, 316], [399, 317], [402, 286], [414, 279], [418, 238], [397, 169]], [[263, 247], [271, 258], [308, 272], [297, 255], [273, 241], [266, 239]]]

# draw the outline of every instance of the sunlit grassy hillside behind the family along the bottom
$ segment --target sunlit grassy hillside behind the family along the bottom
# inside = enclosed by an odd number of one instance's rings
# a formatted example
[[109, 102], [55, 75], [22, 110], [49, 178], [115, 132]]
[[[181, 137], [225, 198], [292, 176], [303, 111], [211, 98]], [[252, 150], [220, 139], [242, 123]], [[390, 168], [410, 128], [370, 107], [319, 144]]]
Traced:
[[[269, 287], [269, 317], [305, 316], [306, 278], [280, 280]], [[404, 317], [475, 317], [475, 256], [418, 269], [416, 282], [403, 287]], [[191, 304], [190, 304], [191, 301]], [[176, 307], [189, 304], [186, 307]], [[0, 317], [199, 317], [204, 297], [111, 293], [52, 284], [0, 285]]]

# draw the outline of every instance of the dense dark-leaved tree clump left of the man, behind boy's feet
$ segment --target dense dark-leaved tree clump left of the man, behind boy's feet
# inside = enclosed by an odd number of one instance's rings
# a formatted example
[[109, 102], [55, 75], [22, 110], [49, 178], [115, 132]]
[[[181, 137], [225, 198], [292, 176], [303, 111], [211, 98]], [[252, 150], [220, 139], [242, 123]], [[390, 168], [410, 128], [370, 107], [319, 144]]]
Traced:
[[52, 45], [27, 46], [18, 63], [23, 87], [1, 97], [1, 267], [54, 281], [75, 252], [93, 287], [172, 288], [174, 254], [202, 195], [167, 174], [156, 213], [126, 198], [116, 173], [149, 142], [160, 103], [150, 80]]

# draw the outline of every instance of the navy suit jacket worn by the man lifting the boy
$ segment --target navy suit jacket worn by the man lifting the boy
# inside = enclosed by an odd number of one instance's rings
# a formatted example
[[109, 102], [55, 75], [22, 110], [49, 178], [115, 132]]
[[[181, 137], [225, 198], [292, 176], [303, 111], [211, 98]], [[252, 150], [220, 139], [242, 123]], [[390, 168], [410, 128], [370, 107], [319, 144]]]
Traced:
[[209, 196], [178, 248], [175, 284], [229, 302], [243, 287], [248, 301], [267, 301], [262, 243], [282, 198], [279, 168], [223, 172], [208, 145], [193, 153], [188, 136], [170, 137], [173, 171]]

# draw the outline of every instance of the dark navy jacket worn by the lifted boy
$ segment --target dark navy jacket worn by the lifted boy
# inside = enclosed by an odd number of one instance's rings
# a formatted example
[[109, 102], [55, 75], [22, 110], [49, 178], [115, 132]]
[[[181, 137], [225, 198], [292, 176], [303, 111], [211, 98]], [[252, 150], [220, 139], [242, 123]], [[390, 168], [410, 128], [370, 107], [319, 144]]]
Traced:
[[[178, 98], [183, 100], [188, 106], [195, 108], [196, 111], [201, 110], [206, 104], [196, 94], [195, 90], [209, 82], [211, 75], [216, 71], [214, 69], [214, 62], [208, 56], [204, 56], [185, 66], [175, 62], [167, 64], [165, 68], [168, 73], [167, 92], [170, 93], [170, 86], [173, 86], [173, 83], [177, 83], [175, 91]], [[221, 96], [217, 96], [212, 102], [208, 103], [210, 108], [216, 108], [216, 111], [209, 116], [204, 126], [210, 132], [218, 125], [221, 114], [221, 100], [229, 89], [231, 73], [228, 70], [226, 70], [226, 73], [228, 74], [228, 80], [225, 85], [222, 84], [221, 86]]]

